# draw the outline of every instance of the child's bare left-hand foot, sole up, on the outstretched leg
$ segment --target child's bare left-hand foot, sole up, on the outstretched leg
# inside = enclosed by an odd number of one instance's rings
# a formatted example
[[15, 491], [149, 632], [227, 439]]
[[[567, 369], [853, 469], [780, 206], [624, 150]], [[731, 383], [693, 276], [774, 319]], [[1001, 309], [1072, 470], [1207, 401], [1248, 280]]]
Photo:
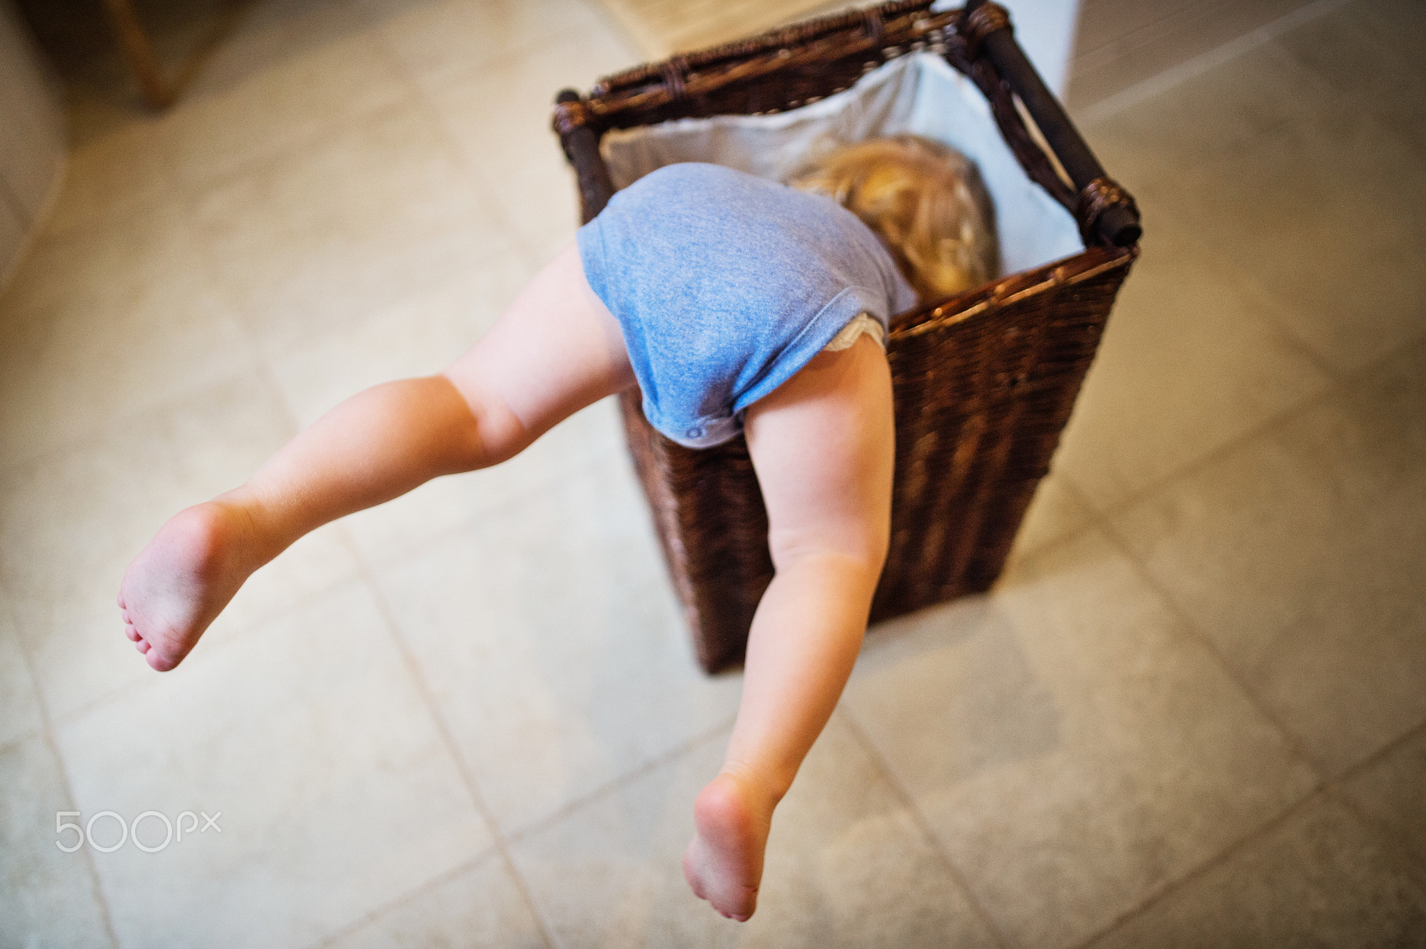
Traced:
[[198, 643], [238, 587], [261, 566], [242, 507], [207, 502], [178, 512], [124, 571], [124, 634], [167, 673]]

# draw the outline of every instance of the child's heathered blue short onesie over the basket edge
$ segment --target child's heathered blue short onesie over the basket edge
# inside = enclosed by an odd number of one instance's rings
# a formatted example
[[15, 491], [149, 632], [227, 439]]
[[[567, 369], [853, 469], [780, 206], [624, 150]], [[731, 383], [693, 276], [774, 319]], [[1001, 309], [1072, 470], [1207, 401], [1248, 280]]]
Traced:
[[619, 321], [643, 413], [709, 447], [860, 313], [915, 305], [854, 214], [722, 165], [666, 165], [579, 229], [589, 286]]

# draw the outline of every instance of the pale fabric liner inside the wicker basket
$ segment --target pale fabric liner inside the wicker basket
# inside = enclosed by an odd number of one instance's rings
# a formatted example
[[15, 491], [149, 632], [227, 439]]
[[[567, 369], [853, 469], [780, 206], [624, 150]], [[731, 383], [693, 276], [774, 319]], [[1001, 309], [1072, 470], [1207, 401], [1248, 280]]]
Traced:
[[931, 54], [904, 56], [844, 93], [776, 115], [686, 118], [605, 135], [617, 187], [677, 161], [710, 161], [786, 181], [841, 145], [911, 133], [974, 161], [995, 205], [1004, 274], [1084, 249], [1074, 218], [1032, 182], [1005, 145], [980, 90]]

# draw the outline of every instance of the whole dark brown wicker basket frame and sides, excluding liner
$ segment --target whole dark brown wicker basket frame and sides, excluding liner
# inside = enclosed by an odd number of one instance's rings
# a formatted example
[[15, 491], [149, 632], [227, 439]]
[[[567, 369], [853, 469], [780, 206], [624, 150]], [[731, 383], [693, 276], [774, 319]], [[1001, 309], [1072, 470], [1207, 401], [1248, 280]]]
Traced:
[[[1104, 177], [1030, 68], [1004, 10], [971, 3], [937, 14], [930, 3], [887, 3], [639, 67], [588, 97], [562, 93], [555, 113], [589, 221], [615, 191], [599, 152], [606, 131], [796, 108], [930, 50], [975, 83], [1025, 172], [1075, 215], [1082, 252], [891, 321], [896, 486], [873, 621], [985, 590], [1000, 574], [1138, 254], [1132, 198]], [[1012, 95], [1078, 187], [1035, 144]], [[687, 449], [645, 420], [637, 390], [620, 403], [699, 663], [709, 673], [736, 665], [773, 576], [747, 443]]]

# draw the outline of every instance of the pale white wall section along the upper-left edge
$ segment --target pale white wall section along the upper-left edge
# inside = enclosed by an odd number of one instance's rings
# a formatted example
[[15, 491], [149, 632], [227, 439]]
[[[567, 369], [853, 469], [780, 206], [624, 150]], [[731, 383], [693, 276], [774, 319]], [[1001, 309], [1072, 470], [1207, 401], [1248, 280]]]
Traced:
[[0, 0], [0, 285], [64, 175], [64, 100], [29, 28]]

